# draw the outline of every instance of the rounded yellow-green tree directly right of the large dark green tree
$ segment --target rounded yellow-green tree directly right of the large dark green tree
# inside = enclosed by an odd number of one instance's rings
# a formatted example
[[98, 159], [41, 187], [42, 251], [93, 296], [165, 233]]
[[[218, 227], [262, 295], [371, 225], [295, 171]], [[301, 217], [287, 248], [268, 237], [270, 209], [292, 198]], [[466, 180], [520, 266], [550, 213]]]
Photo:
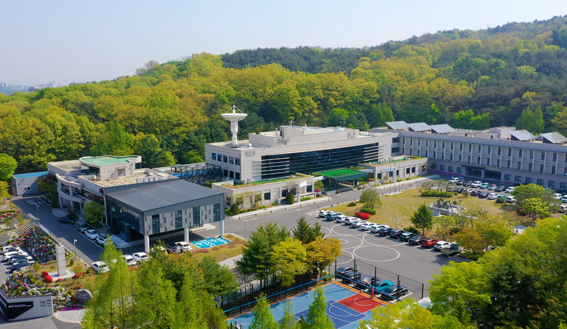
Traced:
[[276, 276], [282, 281], [282, 286], [291, 285], [295, 282], [296, 275], [305, 273], [306, 259], [307, 252], [299, 240], [288, 237], [274, 246], [272, 263]]

